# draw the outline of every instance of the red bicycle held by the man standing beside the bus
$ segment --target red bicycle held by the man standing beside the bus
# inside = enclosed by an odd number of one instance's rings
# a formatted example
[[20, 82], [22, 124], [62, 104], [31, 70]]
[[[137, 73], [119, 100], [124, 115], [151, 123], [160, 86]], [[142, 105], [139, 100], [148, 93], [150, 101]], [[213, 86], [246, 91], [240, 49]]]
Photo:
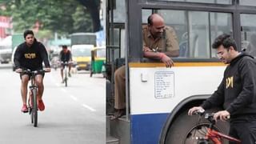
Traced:
[[[241, 144], [239, 139], [222, 134], [222, 132], [218, 131], [218, 128], [214, 126], [216, 123], [214, 120], [214, 113], [205, 113], [205, 111], [198, 110], [194, 112], [194, 114], [199, 115], [198, 124], [186, 134], [187, 138], [189, 135], [193, 135], [192, 138], [197, 144], [222, 144], [224, 143], [224, 139]], [[200, 123], [201, 118], [205, 118], [210, 123]]]

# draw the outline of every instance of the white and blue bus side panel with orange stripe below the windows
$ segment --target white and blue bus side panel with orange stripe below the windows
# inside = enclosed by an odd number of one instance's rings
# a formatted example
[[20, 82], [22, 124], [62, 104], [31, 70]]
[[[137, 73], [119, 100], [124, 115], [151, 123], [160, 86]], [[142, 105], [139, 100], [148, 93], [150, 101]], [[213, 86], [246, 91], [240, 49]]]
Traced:
[[172, 68], [130, 64], [131, 143], [158, 143], [174, 107], [190, 96], [212, 94], [225, 68], [207, 63], [182, 63]]

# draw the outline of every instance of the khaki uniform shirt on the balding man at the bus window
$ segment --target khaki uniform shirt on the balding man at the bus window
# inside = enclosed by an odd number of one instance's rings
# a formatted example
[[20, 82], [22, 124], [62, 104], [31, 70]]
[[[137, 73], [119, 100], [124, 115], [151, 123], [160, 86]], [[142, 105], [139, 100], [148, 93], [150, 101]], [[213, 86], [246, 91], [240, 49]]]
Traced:
[[148, 26], [142, 26], [143, 47], [147, 46], [151, 50], [158, 52], [178, 50], [178, 38], [174, 29], [170, 26], [165, 26], [161, 38], [154, 39], [150, 34]]

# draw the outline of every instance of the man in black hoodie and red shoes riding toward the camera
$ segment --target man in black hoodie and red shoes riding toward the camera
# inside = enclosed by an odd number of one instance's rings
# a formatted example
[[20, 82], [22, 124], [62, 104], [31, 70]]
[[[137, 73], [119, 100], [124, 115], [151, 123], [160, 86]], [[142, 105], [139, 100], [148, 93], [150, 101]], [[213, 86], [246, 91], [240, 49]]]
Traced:
[[[22, 70], [42, 70], [42, 62], [44, 62], [46, 72], [50, 72], [50, 62], [48, 60], [48, 54], [46, 52], [46, 47], [38, 42], [34, 38], [34, 33], [32, 30], [26, 30], [23, 34], [25, 42], [22, 42], [15, 51], [14, 54], [14, 64], [15, 71], [20, 73], [20, 78], [22, 80], [21, 92], [22, 92], [22, 112], [27, 113], [28, 107], [26, 106], [27, 97], [27, 85], [30, 81], [30, 74], [23, 73]], [[42, 94], [44, 90], [43, 86], [44, 74], [36, 74], [34, 82], [38, 86], [38, 109], [45, 110], [45, 105], [42, 102]]]

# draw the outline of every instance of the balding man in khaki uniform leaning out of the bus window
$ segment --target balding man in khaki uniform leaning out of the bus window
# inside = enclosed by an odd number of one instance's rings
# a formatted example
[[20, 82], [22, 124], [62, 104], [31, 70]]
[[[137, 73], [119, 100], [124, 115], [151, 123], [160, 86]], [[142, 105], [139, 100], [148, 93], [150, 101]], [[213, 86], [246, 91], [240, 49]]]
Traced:
[[[159, 60], [166, 67], [174, 66], [170, 57], [178, 57], [178, 38], [174, 29], [165, 26], [164, 19], [159, 14], [151, 14], [147, 25], [142, 26], [143, 56]], [[126, 113], [126, 68], [121, 66], [114, 73], [114, 108], [112, 120]]]

